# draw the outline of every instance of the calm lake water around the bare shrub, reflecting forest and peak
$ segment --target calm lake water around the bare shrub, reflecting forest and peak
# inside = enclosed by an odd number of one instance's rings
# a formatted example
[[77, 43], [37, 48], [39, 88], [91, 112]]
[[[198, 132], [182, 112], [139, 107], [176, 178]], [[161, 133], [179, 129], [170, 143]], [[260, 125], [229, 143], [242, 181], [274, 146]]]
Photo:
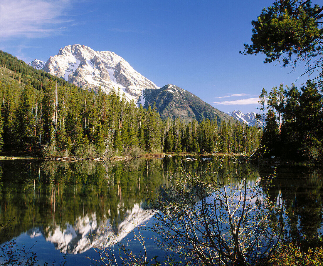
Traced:
[[[159, 194], [169, 177], [181, 171], [203, 171], [212, 161], [183, 161], [182, 157], [140, 159], [134, 161], [0, 161], [0, 224], [11, 222], [9, 238], [18, 248], [33, 247], [39, 264], [45, 261], [60, 265], [96, 265], [99, 259], [93, 247], [107, 243], [126, 244], [136, 232], [153, 226], [153, 210], [147, 197]], [[230, 157], [224, 167], [234, 168]], [[249, 167], [254, 172], [250, 181], [266, 180], [274, 173], [268, 166]], [[313, 236], [321, 231], [323, 202], [323, 170], [315, 167], [278, 166], [276, 178], [267, 196], [286, 203], [291, 236]], [[103, 228], [109, 226], [107, 234]], [[147, 238], [153, 232], [143, 230]], [[0, 235], [0, 243], [6, 241]], [[139, 252], [138, 241], [129, 242]], [[149, 256], [163, 256], [153, 239], [146, 241]], [[0, 258], [1, 262], [1, 258]], [[100, 264], [99, 264], [100, 265]]]

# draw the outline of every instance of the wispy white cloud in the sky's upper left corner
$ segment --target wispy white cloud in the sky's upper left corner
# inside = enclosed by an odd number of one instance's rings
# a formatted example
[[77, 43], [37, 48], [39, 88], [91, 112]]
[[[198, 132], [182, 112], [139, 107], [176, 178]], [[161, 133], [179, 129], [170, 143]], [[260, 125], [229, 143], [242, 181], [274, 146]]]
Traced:
[[61, 32], [72, 0], [2, 0], [0, 38], [37, 38]]

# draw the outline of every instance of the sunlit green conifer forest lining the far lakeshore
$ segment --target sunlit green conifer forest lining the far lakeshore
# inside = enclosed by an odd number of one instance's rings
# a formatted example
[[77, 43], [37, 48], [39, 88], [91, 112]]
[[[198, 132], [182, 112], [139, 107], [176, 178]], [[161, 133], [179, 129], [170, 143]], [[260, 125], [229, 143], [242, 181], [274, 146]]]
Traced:
[[[24, 71], [24, 64], [11, 67]], [[33, 73], [38, 72], [42, 71]], [[149, 153], [236, 152], [257, 148], [260, 143], [257, 128], [233, 120], [187, 124], [180, 118], [161, 119], [155, 104], [137, 107], [120, 97], [119, 90], [89, 92], [51, 75], [45, 86], [34, 86], [31, 80], [23, 89], [18, 85], [19, 81], [0, 82], [0, 142], [8, 155], [39, 152], [46, 144], [54, 144], [53, 155], [93, 157], [102, 155], [107, 143], [119, 155], [138, 148]], [[248, 137], [243, 138], [244, 134]]]

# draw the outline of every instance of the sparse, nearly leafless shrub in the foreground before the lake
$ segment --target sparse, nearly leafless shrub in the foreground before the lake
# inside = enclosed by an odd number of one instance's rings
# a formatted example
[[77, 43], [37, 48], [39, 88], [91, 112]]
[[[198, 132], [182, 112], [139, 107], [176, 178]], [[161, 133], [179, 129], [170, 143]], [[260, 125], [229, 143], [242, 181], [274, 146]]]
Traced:
[[253, 154], [218, 158], [214, 172], [183, 174], [153, 201], [159, 246], [187, 265], [266, 265], [282, 237], [283, 202], [266, 196]]

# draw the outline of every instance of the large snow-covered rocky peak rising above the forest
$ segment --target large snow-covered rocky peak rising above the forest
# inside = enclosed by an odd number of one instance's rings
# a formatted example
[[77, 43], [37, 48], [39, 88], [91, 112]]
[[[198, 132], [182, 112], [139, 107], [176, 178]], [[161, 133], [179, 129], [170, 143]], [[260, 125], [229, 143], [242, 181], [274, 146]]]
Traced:
[[[31, 62], [33, 64], [36, 62]], [[113, 88], [120, 88], [128, 100], [134, 99], [135, 102], [144, 89], [159, 88], [114, 52], [95, 51], [78, 44], [59, 49], [41, 69], [83, 89], [98, 91], [101, 87], [109, 93]]]

